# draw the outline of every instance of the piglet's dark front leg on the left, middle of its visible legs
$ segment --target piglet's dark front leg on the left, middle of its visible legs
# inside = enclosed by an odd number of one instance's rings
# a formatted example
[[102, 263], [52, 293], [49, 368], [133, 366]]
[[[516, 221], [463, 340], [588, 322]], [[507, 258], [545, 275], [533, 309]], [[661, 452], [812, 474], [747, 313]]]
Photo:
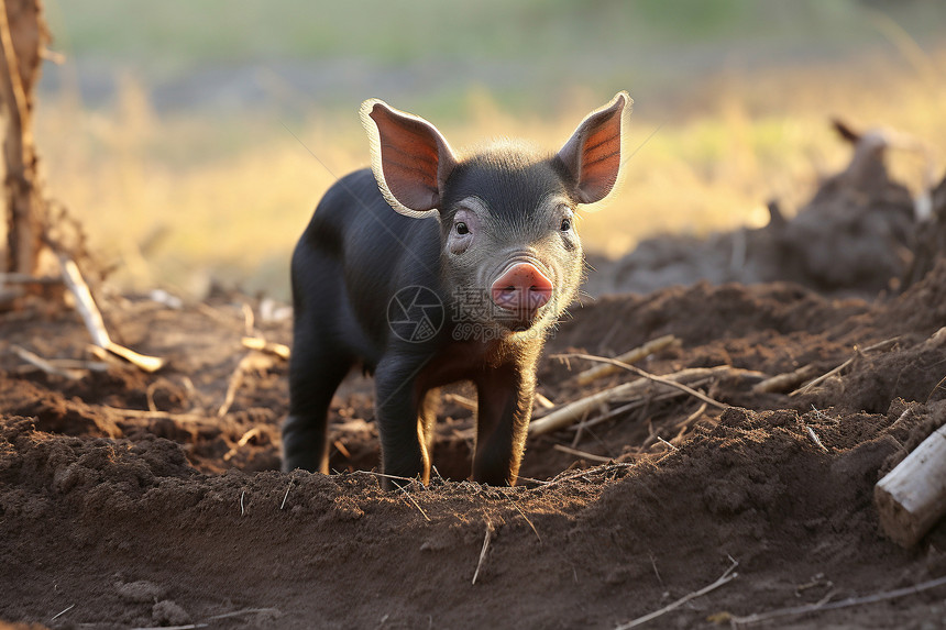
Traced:
[[[375, 409], [381, 435], [381, 464], [385, 475], [413, 479], [430, 478], [430, 461], [420, 445], [419, 422], [421, 399], [415, 382], [424, 367], [422, 355], [391, 353], [375, 371]], [[391, 489], [405, 482], [382, 478], [382, 487]]]

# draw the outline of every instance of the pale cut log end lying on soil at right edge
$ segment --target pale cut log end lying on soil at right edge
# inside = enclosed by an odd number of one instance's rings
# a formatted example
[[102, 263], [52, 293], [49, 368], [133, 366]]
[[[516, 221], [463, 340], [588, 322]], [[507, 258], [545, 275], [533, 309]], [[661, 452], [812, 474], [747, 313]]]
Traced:
[[946, 427], [926, 438], [873, 488], [880, 524], [909, 548], [946, 515]]

